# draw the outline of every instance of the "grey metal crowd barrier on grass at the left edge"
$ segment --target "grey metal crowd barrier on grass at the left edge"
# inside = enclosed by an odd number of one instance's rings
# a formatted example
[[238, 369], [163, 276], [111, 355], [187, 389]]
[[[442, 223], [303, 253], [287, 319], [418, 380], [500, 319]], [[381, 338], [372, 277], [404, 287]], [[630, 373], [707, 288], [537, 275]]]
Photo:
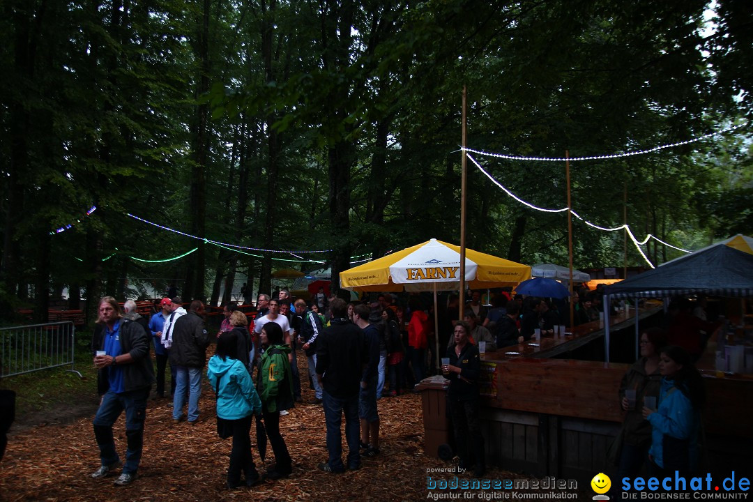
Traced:
[[70, 366], [73, 369], [76, 328], [72, 321], [0, 328], [2, 377]]

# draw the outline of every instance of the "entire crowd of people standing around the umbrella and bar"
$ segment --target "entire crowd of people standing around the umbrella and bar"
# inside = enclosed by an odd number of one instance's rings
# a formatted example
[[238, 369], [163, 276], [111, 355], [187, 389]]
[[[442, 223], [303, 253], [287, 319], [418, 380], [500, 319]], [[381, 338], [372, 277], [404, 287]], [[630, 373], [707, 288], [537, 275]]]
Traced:
[[[373, 300], [373, 297], [372, 297]], [[116, 485], [136, 479], [143, 443], [146, 403], [156, 382], [155, 398], [167, 397], [166, 367], [172, 375], [172, 420], [196, 424], [201, 382], [206, 374], [215, 390], [218, 434], [232, 437], [227, 486], [253, 486], [261, 479], [280, 479], [293, 472], [293, 460], [279, 428], [288, 409], [302, 403], [297, 357], [306, 357], [311, 405], [321, 405], [326, 424], [328, 458], [319, 464], [326, 473], [361, 468], [362, 458], [380, 455], [378, 402], [405, 391], [435, 373], [450, 380], [447, 399], [459, 467], [485, 472], [484, 441], [478, 424], [479, 342], [493, 351], [531, 339], [536, 330], [553, 331], [566, 324], [569, 309], [537, 297], [511, 297], [498, 291], [491, 308], [474, 291], [459, 319], [460, 298], [443, 298], [435, 326], [434, 303], [411, 294], [404, 303], [392, 294], [376, 301], [346, 303], [316, 295], [291, 303], [287, 290], [277, 297], [260, 294], [257, 312], [249, 318], [235, 303], [224, 306], [219, 330], [210, 334], [194, 300], [186, 310], [178, 297], [163, 298], [150, 319], [126, 302], [123, 312], [111, 297], [99, 303], [99, 329], [93, 338], [94, 364], [99, 368], [102, 403], [94, 418], [101, 465], [92, 477], [114, 474]], [[599, 294], [581, 292], [575, 299], [575, 323], [599, 318]], [[593, 312], [596, 312], [594, 314]], [[437, 339], [438, 337], [438, 339]], [[689, 470], [703, 405], [693, 355], [668, 345], [665, 330], [647, 330], [641, 339], [642, 358], [620, 387], [626, 411], [615, 462], [630, 476], [648, 462], [651, 469]], [[216, 342], [206, 367], [206, 351]], [[157, 375], [149, 344], [154, 345]], [[435, 354], [436, 347], [440, 354]], [[439, 365], [440, 356], [444, 359]], [[443, 357], [444, 356], [444, 357]], [[206, 373], [205, 373], [206, 371]], [[304, 382], [306, 379], [304, 379]], [[647, 399], [658, 406], [647, 406]], [[112, 425], [126, 414], [127, 452], [123, 464], [115, 450]], [[206, 412], [205, 412], [206, 413]], [[340, 427], [345, 418], [347, 454], [343, 461]], [[275, 464], [263, 475], [255, 469], [250, 431], [256, 422], [269, 438]]]

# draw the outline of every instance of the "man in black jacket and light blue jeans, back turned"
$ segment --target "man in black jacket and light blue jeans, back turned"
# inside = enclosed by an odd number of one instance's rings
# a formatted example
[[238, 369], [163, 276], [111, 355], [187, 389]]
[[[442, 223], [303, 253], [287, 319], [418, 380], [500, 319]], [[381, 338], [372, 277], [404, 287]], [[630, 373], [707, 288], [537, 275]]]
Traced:
[[172, 420], [183, 420], [186, 387], [188, 390], [188, 423], [199, 421], [199, 397], [201, 396], [201, 374], [206, 364], [206, 348], [209, 346], [209, 333], [204, 325], [204, 304], [199, 300], [191, 302], [186, 315], [175, 321], [170, 347], [170, 366], [175, 366], [177, 383], [172, 399]]

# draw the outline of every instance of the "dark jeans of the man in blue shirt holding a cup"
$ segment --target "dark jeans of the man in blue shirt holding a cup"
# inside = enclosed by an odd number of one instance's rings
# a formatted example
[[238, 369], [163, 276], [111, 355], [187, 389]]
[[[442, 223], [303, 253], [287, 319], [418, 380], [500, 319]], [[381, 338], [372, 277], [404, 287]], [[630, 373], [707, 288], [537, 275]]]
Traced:
[[117, 456], [115, 441], [112, 435], [112, 425], [126, 412], [126, 464], [123, 473], [136, 474], [142, 456], [144, 440], [144, 421], [146, 418], [146, 400], [150, 388], [115, 394], [108, 391], [102, 396], [102, 403], [94, 416], [94, 435], [99, 446], [99, 459], [102, 465], [115, 464], [120, 458]]

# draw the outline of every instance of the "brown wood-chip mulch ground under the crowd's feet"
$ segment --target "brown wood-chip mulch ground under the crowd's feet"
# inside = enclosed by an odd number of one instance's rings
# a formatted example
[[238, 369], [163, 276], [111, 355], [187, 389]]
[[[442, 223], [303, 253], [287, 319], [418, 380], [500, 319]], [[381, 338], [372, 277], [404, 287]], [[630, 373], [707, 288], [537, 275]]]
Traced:
[[[313, 399], [313, 392], [306, 381], [305, 360], [299, 358], [298, 364], [306, 402]], [[0, 500], [426, 500], [426, 470], [449, 467], [423, 454], [421, 397], [409, 393], [379, 401], [381, 455], [364, 459], [358, 471], [324, 473], [316, 467], [327, 459], [324, 412], [322, 406], [304, 403], [280, 418], [294, 461], [293, 475], [230, 491], [224, 483], [231, 440], [217, 436], [214, 406], [214, 393], [206, 383], [200, 402], [205, 419], [194, 426], [172, 423], [170, 400], [151, 400], [139, 479], [127, 487], [115, 487], [111, 477], [89, 477], [99, 466], [93, 416], [20, 431], [11, 437], [0, 461]], [[124, 458], [122, 415], [114, 433]], [[257, 468], [263, 473], [254, 427], [252, 442]], [[344, 455], [346, 445], [343, 449]], [[269, 447], [266, 464], [273, 462]], [[486, 477], [504, 474], [491, 470]]]

